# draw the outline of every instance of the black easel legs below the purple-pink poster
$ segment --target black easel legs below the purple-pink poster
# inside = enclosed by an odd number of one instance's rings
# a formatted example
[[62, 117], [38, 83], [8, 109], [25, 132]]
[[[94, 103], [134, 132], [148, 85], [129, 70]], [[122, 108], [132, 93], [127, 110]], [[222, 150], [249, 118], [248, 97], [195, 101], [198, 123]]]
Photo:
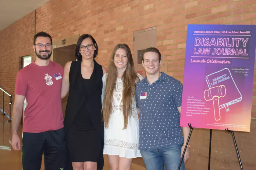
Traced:
[[[181, 161], [180, 161], [178, 170], [180, 170], [180, 168], [181, 168], [181, 163], [182, 163], [182, 160], [183, 160], [183, 158], [184, 158], [184, 154], [185, 154], [185, 152], [186, 152], [187, 145], [188, 145], [188, 142], [189, 142], [189, 140], [190, 140], [190, 136], [191, 136], [192, 130], [194, 129], [194, 128], [191, 126], [191, 124], [189, 124], [189, 123], [188, 123], [188, 126], [190, 127], [190, 133], [189, 133], [189, 136], [188, 136], [188, 140], [187, 140], [187, 142], [186, 142], [186, 145], [185, 145], [185, 149], [184, 149], [183, 154], [182, 154], [182, 156], [181, 156]], [[234, 131], [230, 131], [230, 130], [228, 130], [228, 128], [225, 129], [225, 131], [232, 133], [233, 140], [234, 140], [234, 144], [235, 144], [236, 153], [237, 153], [237, 156], [238, 156], [238, 159], [239, 159], [239, 163], [240, 163], [240, 168], [241, 168], [241, 170], [243, 170], [242, 162], [241, 162], [240, 155], [239, 155], [238, 148], [237, 148], [236, 141], [235, 141]], [[209, 146], [208, 170], [210, 170], [210, 161], [211, 161], [211, 136], [212, 136], [212, 129], [210, 129], [210, 146]]]

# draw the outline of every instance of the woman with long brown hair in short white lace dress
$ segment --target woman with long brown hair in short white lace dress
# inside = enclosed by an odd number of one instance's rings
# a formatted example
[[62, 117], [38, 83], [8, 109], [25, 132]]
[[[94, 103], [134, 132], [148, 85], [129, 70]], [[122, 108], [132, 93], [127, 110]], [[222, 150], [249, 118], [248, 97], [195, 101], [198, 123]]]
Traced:
[[142, 76], [134, 71], [127, 44], [114, 48], [108, 70], [102, 78], [103, 154], [108, 155], [111, 170], [129, 170], [132, 159], [141, 157], [135, 86]]

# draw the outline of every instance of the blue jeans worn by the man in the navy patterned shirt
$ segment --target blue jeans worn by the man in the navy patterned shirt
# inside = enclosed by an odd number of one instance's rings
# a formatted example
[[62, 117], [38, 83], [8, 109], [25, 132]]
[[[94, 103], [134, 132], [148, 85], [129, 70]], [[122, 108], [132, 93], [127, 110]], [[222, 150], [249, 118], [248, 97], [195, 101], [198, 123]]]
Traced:
[[[141, 149], [144, 164], [147, 170], [177, 170], [181, 160], [182, 144], [157, 149]], [[185, 170], [184, 159], [180, 170]]]

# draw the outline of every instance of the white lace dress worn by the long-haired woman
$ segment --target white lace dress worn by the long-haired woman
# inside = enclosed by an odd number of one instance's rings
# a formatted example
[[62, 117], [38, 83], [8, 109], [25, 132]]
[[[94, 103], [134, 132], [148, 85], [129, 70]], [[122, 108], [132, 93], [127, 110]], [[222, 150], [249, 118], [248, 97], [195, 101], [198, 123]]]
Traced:
[[[102, 77], [103, 90], [102, 101], [104, 98], [104, 89], [106, 86], [107, 74]], [[137, 74], [139, 79], [142, 76]], [[104, 150], [103, 154], [119, 155], [124, 158], [141, 157], [140, 150], [138, 149], [139, 143], [139, 119], [136, 109], [136, 100], [132, 103], [132, 116], [128, 118], [127, 129], [123, 129], [123, 111], [122, 111], [122, 92], [123, 82], [122, 79], [117, 79], [116, 88], [113, 93], [113, 110], [109, 118], [109, 128], [104, 128]]]

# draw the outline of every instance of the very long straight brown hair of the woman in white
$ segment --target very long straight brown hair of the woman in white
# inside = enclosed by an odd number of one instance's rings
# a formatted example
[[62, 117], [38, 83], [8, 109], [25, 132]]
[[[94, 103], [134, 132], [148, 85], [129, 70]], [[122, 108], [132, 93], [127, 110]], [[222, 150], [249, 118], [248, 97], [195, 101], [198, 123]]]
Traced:
[[105, 122], [105, 127], [109, 127], [109, 117], [111, 116], [113, 110], [113, 92], [117, 82], [117, 68], [114, 63], [115, 53], [119, 48], [123, 48], [126, 51], [128, 63], [126, 70], [123, 72], [122, 81], [123, 81], [123, 95], [122, 95], [122, 110], [123, 110], [123, 129], [127, 128], [128, 117], [132, 115], [132, 102], [136, 98], [135, 87], [136, 83], [139, 81], [136, 72], [134, 71], [133, 58], [130, 48], [127, 44], [118, 44], [114, 48], [111, 59], [109, 63], [108, 76], [106, 78], [106, 87], [104, 90], [104, 99], [103, 99], [103, 119]]

